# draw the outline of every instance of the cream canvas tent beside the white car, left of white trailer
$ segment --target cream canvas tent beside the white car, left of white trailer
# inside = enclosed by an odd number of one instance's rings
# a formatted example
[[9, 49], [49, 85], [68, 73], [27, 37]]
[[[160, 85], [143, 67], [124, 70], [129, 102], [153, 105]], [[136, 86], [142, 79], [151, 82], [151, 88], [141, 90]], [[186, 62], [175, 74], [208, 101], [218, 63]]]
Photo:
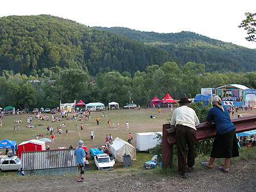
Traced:
[[117, 162], [123, 162], [123, 155], [130, 155], [131, 160], [136, 160], [136, 148], [130, 143], [116, 137], [109, 145], [109, 152]]

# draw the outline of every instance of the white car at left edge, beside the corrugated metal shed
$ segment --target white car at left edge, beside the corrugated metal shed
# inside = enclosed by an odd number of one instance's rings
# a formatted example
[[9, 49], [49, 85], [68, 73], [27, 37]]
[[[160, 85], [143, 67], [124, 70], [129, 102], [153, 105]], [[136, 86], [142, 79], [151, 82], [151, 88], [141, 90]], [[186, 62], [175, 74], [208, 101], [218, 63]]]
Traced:
[[3, 170], [18, 170], [20, 168], [20, 159], [17, 156], [5, 156], [0, 160], [0, 173]]

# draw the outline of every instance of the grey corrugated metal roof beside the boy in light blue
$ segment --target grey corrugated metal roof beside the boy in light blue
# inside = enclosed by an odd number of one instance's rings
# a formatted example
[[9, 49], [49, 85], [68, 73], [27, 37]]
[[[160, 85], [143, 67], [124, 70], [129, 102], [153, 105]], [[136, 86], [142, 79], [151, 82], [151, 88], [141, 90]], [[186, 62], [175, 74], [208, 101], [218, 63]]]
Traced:
[[76, 166], [75, 149], [22, 152], [22, 169], [51, 169]]

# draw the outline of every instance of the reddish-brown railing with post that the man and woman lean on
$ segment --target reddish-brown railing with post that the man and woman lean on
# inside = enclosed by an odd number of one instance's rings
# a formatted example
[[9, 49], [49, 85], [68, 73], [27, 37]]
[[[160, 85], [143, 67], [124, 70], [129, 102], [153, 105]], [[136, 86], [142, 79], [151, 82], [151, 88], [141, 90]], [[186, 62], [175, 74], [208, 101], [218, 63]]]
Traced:
[[[256, 129], [256, 115], [232, 119], [232, 122], [237, 133]], [[209, 139], [216, 135], [214, 124], [200, 123], [196, 129], [196, 140]], [[174, 126], [163, 124], [162, 166], [172, 164], [173, 146], [176, 144], [175, 134]]]

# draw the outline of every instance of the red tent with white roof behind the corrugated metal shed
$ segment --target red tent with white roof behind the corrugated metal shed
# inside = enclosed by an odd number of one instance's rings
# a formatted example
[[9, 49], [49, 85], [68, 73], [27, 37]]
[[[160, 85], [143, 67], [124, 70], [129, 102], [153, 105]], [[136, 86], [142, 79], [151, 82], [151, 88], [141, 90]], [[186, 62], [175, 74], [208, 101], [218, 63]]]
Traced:
[[43, 151], [46, 150], [46, 142], [32, 139], [24, 141], [18, 145], [18, 156], [21, 157], [23, 151]]

